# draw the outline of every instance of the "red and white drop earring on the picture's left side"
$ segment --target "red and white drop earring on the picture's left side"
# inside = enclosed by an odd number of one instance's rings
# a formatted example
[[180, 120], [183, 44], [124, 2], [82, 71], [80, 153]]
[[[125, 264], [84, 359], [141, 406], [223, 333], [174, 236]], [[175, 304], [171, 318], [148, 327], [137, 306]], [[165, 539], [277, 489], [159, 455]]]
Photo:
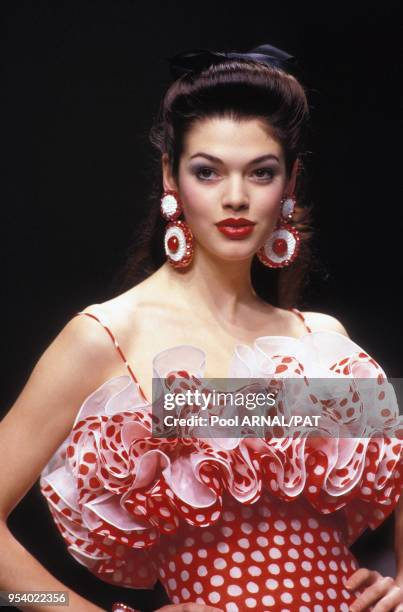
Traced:
[[165, 229], [164, 248], [168, 262], [173, 268], [186, 268], [193, 259], [193, 233], [182, 214], [179, 195], [174, 190], [164, 191], [161, 198], [161, 214], [169, 221]]

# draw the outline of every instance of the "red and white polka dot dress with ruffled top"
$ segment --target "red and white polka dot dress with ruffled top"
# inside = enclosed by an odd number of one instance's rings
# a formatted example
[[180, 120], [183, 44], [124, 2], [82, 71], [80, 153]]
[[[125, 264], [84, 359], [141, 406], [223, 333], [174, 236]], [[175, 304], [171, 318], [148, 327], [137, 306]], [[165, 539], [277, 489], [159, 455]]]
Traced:
[[[345, 589], [358, 567], [348, 547], [385, 520], [403, 488], [402, 417], [379, 364], [337, 332], [262, 336], [236, 347], [229, 378], [299, 378], [299, 405], [332, 435], [157, 438], [158, 417], [105, 318], [80, 314], [106, 328], [130, 376], [84, 401], [41, 474], [70, 554], [115, 585], [160, 580], [172, 603], [347, 611], [359, 592]], [[166, 349], [154, 376], [174, 393], [202, 390], [205, 358], [192, 345]], [[317, 377], [344, 378], [344, 393], [323, 399]], [[291, 404], [279, 402], [278, 414]]]

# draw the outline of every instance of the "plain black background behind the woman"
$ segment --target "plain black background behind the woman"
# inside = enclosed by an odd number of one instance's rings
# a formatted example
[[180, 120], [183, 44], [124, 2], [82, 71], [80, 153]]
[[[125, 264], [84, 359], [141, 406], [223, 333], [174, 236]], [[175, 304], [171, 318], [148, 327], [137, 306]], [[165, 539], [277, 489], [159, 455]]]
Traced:
[[[399, 2], [17, 0], [1, 3], [0, 15], [3, 414], [70, 316], [109, 297], [145, 212], [148, 130], [170, 83], [165, 58], [190, 47], [270, 42], [298, 58], [322, 262], [304, 309], [337, 316], [389, 376], [403, 375]], [[105, 608], [166, 601], [103, 584], [71, 559], [37, 486], [9, 526], [62, 582]], [[392, 538], [391, 518], [353, 550], [366, 566], [381, 563], [374, 551], [386, 555], [390, 572]]]

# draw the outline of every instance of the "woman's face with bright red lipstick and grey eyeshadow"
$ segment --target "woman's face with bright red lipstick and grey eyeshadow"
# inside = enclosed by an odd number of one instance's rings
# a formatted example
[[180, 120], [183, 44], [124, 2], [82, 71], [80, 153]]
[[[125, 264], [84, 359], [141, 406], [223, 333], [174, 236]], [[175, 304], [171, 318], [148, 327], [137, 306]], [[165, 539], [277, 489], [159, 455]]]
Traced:
[[[219, 258], [241, 260], [251, 258], [274, 230], [282, 197], [293, 193], [296, 167], [287, 183], [282, 147], [262, 121], [209, 118], [187, 133], [178, 184], [163, 157], [164, 188], [178, 191], [199, 245]], [[221, 231], [216, 225], [239, 218], [253, 225]]]

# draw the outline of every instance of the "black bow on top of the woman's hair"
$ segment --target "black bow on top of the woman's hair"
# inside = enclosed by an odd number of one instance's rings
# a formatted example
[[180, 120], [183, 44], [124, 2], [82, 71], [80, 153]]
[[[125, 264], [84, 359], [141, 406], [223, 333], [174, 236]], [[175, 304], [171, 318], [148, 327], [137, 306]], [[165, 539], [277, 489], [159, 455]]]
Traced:
[[294, 56], [282, 51], [273, 45], [259, 45], [250, 51], [210, 51], [209, 49], [190, 49], [168, 57], [171, 75], [174, 79], [190, 72], [200, 72], [212, 64], [219, 64], [226, 59], [255, 60], [288, 69], [287, 61], [294, 59]]

